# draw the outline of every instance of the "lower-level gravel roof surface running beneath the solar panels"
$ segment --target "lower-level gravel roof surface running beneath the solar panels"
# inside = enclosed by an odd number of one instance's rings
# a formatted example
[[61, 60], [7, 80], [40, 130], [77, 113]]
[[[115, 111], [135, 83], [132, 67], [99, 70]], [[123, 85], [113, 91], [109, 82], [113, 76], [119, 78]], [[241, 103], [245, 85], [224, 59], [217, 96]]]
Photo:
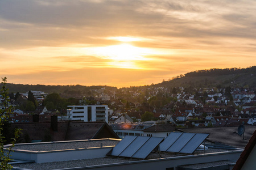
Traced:
[[[209, 148], [209, 150], [206, 150], [205, 153], [222, 152], [222, 151], [228, 151], [228, 150]], [[202, 154], [203, 152], [196, 151], [195, 154]], [[170, 157], [183, 156], [183, 155], [186, 155], [186, 154], [155, 152], [155, 153], [151, 153], [150, 155], [148, 155], [148, 157], [146, 159], [170, 158]], [[64, 169], [64, 168], [86, 167], [86, 166], [91, 166], [91, 165], [126, 163], [126, 162], [132, 162], [132, 161], [137, 161], [137, 160], [139, 160], [139, 159], [130, 159], [130, 158], [117, 159], [117, 158], [109, 156], [107, 158], [71, 160], [71, 161], [65, 161], [65, 162], [51, 162], [51, 163], [41, 163], [41, 164], [37, 164], [37, 163], [13, 164], [13, 167], [26, 168], [26, 169], [42, 169], [42, 170], [44, 170], [44, 169]]]

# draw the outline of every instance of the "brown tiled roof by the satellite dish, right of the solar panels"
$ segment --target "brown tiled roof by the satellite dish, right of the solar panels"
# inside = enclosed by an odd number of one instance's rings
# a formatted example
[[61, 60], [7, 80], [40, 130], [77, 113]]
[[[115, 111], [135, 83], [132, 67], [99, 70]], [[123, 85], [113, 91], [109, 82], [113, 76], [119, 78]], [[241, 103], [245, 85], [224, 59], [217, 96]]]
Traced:
[[[184, 131], [187, 133], [208, 133], [210, 134], [207, 138], [209, 141], [218, 142], [225, 145], [245, 148], [249, 139], [256, 130], [256, 126], [245, 126], [244, 138], [240, 137], [237, 133], [238, 126], [231, 127], [216, 127], [216, 128], [191, 128], [191, 129], [177, 129], [179, 131]], [[236, 132], [236, 133], [234, 133]]]

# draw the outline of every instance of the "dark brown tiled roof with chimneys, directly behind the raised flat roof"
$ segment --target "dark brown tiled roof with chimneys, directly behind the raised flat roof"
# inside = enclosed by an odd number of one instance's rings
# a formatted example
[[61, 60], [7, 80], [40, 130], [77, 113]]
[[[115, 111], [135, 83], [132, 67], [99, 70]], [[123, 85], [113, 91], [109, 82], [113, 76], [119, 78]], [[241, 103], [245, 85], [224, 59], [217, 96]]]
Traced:
[[59, 121], [57, 131], [52, 130], [51, 122], [29, 122], [11, 126], [23, 129], [23, 138], [28, 135], [31, 140], [43, 140], [46, 136], [51, 141], [119, 138], [106, 122]]

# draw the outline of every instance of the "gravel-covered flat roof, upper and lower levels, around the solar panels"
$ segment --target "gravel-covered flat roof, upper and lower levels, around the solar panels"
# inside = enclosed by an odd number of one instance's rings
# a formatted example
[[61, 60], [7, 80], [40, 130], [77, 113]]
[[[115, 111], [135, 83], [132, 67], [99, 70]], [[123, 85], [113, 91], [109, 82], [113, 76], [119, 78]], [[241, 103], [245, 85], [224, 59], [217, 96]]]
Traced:
[[[64, 142], [46, 142], [46, 143], [28, 143], [28, 144], [18, 144], [14, 147], [14, 150], [23, 151], [53, 151], [53, 150], [67, 150], [72, 148], [92, 148], [102, 146], [115, 146], [121, 141], [120, 139], [91, 139], [84, 141], [64, 141]], [[220, 148], [209, 148], [205, 151], [195, 151], [193, 155], [199, 154], [209, 154], [216, 152], [231, 151], [228, 149]], [[177, 156], [184, 156], [188, 154], [177, 154], [171, 152], [152, 152], [147, 156], [145, 160], [152, 159], [164, 159], [164, 158], [174, 158]], [[93, 165], [102, 164], [115, 164], [115, 163], [128, 163], [136, 162], [141, 159], [130, 159], [107, 156], [105, 158], [94, 158], [94, 159], [81, 159], [81, 160], [69, 160], [63, 162], [49, 162], [49, 163], [12, 163], [14, 169], [26, 168], [26, 169], [64, 169], [64, 168], [75, 168], [75, 167], [88, 167]], [[17, 167], [17, 168], [16, 168]]]

